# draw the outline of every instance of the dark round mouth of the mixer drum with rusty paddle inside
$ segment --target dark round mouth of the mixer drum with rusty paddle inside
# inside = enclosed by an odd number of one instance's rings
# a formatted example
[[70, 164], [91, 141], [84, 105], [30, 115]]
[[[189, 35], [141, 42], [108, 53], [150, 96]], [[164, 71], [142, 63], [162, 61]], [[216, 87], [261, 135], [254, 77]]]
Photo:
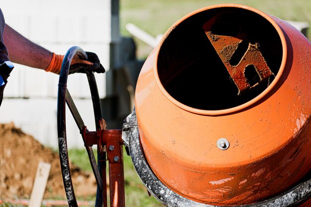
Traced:
[[[260, 60], [266, 68], [261, 71]], [[160, 45], [156, 66], [164, 89], [178, 102], [223, 110], [262, 93], [281, 61], [281, 39], [267, 19], [243, 8], [222, 7], [173, 26]]]

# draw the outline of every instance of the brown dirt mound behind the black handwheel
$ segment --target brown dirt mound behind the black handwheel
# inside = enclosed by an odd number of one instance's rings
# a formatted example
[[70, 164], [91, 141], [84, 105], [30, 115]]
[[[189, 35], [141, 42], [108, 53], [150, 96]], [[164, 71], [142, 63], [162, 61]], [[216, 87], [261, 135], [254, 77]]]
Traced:
[[[40, 161], [51, 163], [44, 198], [65, 198], [59, 155], [14, 127], [0, 124], [0, 198], [29, 198]], [[76, 196], [96, 194], [91, 173], [71, 164]]]

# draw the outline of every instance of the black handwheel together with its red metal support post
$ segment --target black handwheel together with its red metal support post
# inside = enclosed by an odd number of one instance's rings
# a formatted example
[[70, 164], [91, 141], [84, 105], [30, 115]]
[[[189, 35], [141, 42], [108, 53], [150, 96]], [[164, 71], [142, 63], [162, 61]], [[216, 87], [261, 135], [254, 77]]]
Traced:
[[[80, 134], [83, 138], [84, 146], [87, 151], [89, 161], [97, 182], [95, 207], [107, 207], [106, 161], [108, 161], [109, 167], [110, 206], [124, 207], [125, 196], [122, 131], [106, 129], [105, 120], [102, 118], [100, 99], [98, 95], [95, 76], [91, 71], [85, 71], [85, 73], [88, 79], [93, 102], [96, 131], [89, 132], [87, 130], [87, 127], [84, 125], [78, 109], [67, 88], [67, 79], [70, 64], [76, 54], [78, 54], [82, 59], [87, 59], [87, 55], [85, 54], [85, 52], [77, 46], [72, 47], [68, 50], [64, 57], [62, 69], [60, 72], [57, 102], [59, 154], [68, 204], [70, 207], [78, 207], [71, 179], [68, 159], [66, 104], [69, 107], [78, 126]], [[92, 145], [94, 144], [97, 144], [97, 163], [92, 150]], [[106, 148], [106, 146], [108, 147]]]

